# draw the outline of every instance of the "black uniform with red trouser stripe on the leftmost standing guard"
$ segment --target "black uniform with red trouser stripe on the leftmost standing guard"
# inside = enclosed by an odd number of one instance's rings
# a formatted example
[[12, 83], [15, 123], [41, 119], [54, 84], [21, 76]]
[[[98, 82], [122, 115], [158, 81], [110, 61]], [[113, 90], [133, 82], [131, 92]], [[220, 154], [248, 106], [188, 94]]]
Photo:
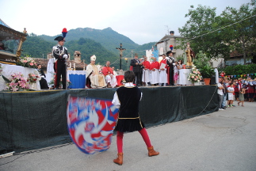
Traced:
[[59, 88], [60, 76], [62, 78], [63, 89], [66, 89], [67, 86], [67, 59], [63, 58], [65, 54], [67, 55], [67, 47], [60, 45], [52, 47], [52, 55], [57, 59], [54, 65], [56, 72], [54, 80], [55, 89]]

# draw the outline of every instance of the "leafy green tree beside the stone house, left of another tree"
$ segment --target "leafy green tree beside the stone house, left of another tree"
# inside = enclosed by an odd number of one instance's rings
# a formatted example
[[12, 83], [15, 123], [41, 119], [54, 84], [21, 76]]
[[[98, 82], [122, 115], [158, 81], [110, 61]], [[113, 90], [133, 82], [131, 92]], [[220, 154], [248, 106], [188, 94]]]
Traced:
[[[216, 16], [216, 8], [199, 5], [197, 9], [190, 6], [189, 13], [185, 17], [189, 17], [182, 28], [178, 28], [181, 36], [185, 39], [180, 40], [179, 44], [190, 42], [195, 53], [203, 51], [207, 58], [219, 58], [229, 55], [229, 47], [222, 40], [223, 33], [215, 32], [220, 25], [220, 17]], [[178, 47], [182, 48], [182, 47]]]

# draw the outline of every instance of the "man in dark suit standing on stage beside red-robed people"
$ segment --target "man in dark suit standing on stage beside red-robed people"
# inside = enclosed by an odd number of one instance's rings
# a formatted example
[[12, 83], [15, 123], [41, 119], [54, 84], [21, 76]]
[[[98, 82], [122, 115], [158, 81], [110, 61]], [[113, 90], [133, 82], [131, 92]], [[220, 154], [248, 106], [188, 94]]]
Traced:
[[134, 59], [131, 60], [130, 64], [133, 68], [132, 71], [136, 76], [136, 86], [141, 86], [142, 78], [142, 63], [139, 62], [138, 55], [135, 54]]

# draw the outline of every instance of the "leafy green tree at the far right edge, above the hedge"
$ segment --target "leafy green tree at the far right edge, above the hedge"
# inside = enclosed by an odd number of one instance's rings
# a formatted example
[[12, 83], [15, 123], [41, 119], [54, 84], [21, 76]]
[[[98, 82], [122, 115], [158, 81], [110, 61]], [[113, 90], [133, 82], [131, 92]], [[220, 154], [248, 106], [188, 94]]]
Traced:
[[222, 25], [230, 25], [224, 29], [224, 42], [231, 46], [237, 54], [246, 59], [252, 58], [256, 51], [256, 8], [255, 2], [243, 4], [239, 9], [227, 7], [221, 13]]

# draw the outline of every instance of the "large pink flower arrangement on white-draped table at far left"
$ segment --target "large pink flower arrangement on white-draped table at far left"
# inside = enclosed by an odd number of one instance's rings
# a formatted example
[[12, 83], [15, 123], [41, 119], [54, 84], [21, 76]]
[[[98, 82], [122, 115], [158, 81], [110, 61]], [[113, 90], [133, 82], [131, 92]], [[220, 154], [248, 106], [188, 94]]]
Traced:
[[6, 86], [7, 90], [13, 92], [19, 90], [29, 90], [29, 83], [27, 82], [27, 78], [24, 78], [21, 72], [11, 74], [11, 78]]

